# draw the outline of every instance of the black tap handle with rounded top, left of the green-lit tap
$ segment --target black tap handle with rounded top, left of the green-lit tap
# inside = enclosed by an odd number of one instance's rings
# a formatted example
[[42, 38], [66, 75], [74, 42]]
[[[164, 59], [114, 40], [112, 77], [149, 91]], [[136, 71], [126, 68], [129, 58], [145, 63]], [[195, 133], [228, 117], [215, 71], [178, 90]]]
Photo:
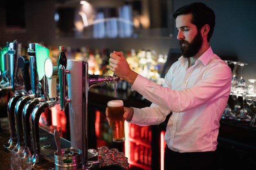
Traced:
[[20, 56], [18, 59], [18, 64], [22, 69], [24, 86], [25, 86], [25, 90], [28, 93], [28, 91], [31, 90], [31, 83], [30, 83], [30, 76], [29, 76], [29, 58], [27, 57], [27, 55]]

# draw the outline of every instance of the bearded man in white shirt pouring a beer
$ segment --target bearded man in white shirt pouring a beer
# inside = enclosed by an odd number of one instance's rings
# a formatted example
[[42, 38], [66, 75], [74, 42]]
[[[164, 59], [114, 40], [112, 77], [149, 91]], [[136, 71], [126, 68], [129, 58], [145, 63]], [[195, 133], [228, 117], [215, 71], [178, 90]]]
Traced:
[[[124, 118], [139, 126], [166, 127], [165, 170], [216, 170], [220, 119], [230, 94], [231, 69], [210, 46], [213, 10], [200, 2], [173, 14], [182, 56], [171, 66], [163, 86], [132, 71], [121, 52], [110, 54], [110, 70], [152, 104], [125, 107]], [[108, 109], [106, 109], [108, 119]], [[110, 123], [110, 120], [108, 119]]]

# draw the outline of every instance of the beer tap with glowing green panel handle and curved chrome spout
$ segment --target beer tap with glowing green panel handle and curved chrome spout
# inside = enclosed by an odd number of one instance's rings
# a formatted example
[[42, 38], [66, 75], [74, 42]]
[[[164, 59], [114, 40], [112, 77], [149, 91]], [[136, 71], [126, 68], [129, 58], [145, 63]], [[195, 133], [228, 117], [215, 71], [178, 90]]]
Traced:
[[[37, 123], [37, 129], [34, 130], [34, 121], [32, 119], [32, 113], [33, 110], [36, 108], [36, 106], [39, 106], [38, 104], [43, 104], [43, 102], [48, 100], [47, 97], [47, 86], [46, 86], [46, 78], [44, 73], [44, 66], [42, 66], [42, 63], [44, 63], [45, 59], [49, 57], [49, 49], [46, 46], [43, 46], [40, 43], [31, 43], [29, 44], [28, 54], [30, 55], [30, 71], [31, 71], [31, 82], [32, 82], [32, 94], [34, 95], [34, 99], [30, 99], [27, 101], [25, 106], [22, 109], [22, 118], [23, 118], [23, 128], [24, 128], [24, 136], [25, 136], [25, 146], [28, 146], [31, 148], [31, 151], [34, 151], [34, 166], [36, 165], [36, 158], [39, 155], [40, 158], [42, 156], [40, 155], [40, 148], [36, 148], [36, 146], [39, 145], [39, 139], [34, 136], [36, 132], [39, 134], [39, 118], [38, 117], [38, 123]], [[36, 74], [37, 73], [37, 74]], [[37, 85], [38, 84], [38, 85]], [[42, 110], [43, 107], [40, 107], [40, 110]], [[38, 115], [38, 114], [37, 114]], [[31, 123], [30, 123], [31, 119]], [[33, 123], [32, 123], [33, 121]], [[32, 128], [33, 127], [33, 128]], [[32, 139], [33, 139], [33, 149], [31, 147], [31, 136], [30, 132], [32, 130]], [[38, 145], [36, 145], [38, 144]], [[36, 148], [36, 149], [35, 149]], [[39, 154], [38, 154], [39, 150]], [[42, 163], [49, 162], [45, 159], [42, 160]]]

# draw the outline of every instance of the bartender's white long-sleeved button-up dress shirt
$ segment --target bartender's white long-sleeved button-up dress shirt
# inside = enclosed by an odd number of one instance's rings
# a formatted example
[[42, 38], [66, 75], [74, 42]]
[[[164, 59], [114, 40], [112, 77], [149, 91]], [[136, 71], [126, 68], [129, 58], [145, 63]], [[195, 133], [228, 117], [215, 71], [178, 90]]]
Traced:
[[176, 152], [206, 152], [217, 147], [220, 119], [230, 94], [231, 69], [211, 47], [189, 67], [181, 56], [166, 73], [163, 86], [138, 75], [132, 89], [152, 102], [134, 108], [130, 123], [162, 123], [172, 111], [165, 141]]

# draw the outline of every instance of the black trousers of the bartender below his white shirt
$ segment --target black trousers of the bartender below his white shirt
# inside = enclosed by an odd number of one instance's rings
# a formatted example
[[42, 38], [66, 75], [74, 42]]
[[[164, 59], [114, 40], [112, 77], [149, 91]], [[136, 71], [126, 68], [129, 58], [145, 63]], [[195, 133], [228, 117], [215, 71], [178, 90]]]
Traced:
[[218, 170], [217, 154], [216, 151], [179, 153], [166, 145], [164, 170]]

